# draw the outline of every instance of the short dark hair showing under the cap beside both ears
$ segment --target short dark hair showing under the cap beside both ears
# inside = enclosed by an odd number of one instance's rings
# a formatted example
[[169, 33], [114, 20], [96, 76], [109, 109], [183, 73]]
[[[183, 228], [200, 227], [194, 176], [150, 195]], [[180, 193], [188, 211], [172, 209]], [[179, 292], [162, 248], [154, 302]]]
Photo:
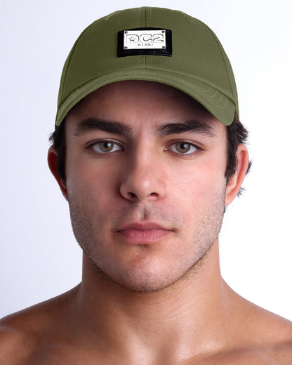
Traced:
[[[62, 121], [60, 126], [55, 127], [55, 131], [50, 136], [50, 142], [53, 145], [55, 152], [58, 157], [56, 161], [56, 168], [58, 175], [62, 181], [66, 182], [66, 140], [65, 140], [65, 124], [66, 118]], [[228, 180], [237, 171], [237, 147], [238, 145], [245, 144], [248, 138], [248, 131], [241, 124], [237, 116], [235, 115], [234, 120], [230, 126], [227, 126], [227, 166], [225, 170], [225, 178]], [[251, 161], [248, 164], [248, 173], [251, 167]], [[239, 194], [241, 190], [239, 191]]]

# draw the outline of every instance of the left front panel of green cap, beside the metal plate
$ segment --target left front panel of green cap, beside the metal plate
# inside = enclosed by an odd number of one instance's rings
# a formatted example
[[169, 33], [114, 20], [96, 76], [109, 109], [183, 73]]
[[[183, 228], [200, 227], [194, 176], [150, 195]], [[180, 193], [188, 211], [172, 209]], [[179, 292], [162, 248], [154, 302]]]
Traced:
[[123, 24], [119, 12], [115, 12], [111, 16], [96, 20], [81, 34], [74, 44], [74, 52], [68, 64], [65, 65], [67, 69], [63, 71], [66, 76], [59, 106], [72, 91], [96, 77], [115, 69], [141, 67], [140, 56], [117, 58], [117, 32], [125, 23], [129, 27], [141, 25], [140, 9], [132, 9], [125, 15]]

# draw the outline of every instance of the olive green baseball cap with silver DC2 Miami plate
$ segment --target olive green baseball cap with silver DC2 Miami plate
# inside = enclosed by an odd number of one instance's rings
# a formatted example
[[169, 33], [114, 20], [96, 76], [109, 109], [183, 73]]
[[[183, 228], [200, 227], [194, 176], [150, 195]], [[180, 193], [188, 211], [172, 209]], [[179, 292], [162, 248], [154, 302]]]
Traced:
[[227, 55], [203, 22], [167, 8], [132, 8], [100, 18], [82, 32], [60, 81], [58, 126], [86, 95], [122, 80], [157, 81], [201, 103], [226, 126], [239, 116]]

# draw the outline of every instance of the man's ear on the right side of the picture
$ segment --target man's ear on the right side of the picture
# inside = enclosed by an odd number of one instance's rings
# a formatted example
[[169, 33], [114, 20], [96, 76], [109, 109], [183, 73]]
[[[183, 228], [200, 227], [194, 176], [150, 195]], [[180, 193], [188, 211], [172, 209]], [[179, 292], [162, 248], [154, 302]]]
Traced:
[[248, 168], [248, 151], [245, 145], [237, 148], [237, 171], [230, 178], [226, 186], [225, 206], [229, 205], [237, 196], [246, 176]]

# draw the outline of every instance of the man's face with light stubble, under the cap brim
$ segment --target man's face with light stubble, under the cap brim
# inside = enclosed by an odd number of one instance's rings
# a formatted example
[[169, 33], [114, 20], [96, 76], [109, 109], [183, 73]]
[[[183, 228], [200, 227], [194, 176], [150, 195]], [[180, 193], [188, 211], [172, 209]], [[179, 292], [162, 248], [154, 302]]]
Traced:
[[157, 291], [195, 268], [223, 220], [223, 124], [175, 88], [121, 81], [69, 112], [66, 140], [72, 227], [95, 272]]

